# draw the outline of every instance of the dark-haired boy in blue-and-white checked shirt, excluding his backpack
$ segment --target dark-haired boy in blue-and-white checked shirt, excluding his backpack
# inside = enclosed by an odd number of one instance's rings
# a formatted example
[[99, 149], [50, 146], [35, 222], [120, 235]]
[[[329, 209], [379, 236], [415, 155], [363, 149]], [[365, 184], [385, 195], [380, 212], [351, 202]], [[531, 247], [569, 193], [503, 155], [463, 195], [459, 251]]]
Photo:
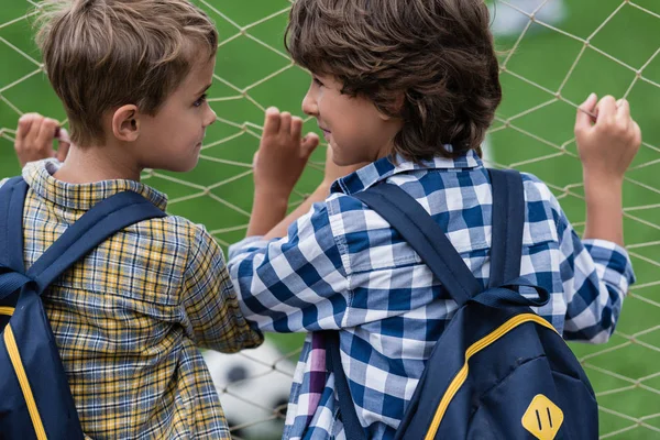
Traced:
[[[502, 99], [490, 23], [483, 0], [292, 7], [287, 48], [311, 73], [302, 110], [328, 142], [326, 176], [289, 216], [267, 217], [286, 206], [307, 154], [284, 141], [296, 132], [290, 116], [268, 110], [264, 136], [276, 141], [262, 139], [248, 239], [230, 249], [228, 263], [249, 320], [265, 331], [310, 332], [285, 439], [346, 437], [350, 415], [339, 408], [320, 330], [339, 330], [359, 425], [370, 439], [391, 439], [457, 309], [400, 234], [351, 195], [399, 186], [488, 282], [492, 190], [479, 152]], [[585, 238], [600, 240], [581, 241], [546, 185], [524, 175], [520, 275], [550, 293], [538, 311], [564, 338], [602, 342], [634, 280], [622, 248], [622, 184], [640, 133], [625, 100], [596, 102], [595, 95], [585, 101], [575, 131]]]

